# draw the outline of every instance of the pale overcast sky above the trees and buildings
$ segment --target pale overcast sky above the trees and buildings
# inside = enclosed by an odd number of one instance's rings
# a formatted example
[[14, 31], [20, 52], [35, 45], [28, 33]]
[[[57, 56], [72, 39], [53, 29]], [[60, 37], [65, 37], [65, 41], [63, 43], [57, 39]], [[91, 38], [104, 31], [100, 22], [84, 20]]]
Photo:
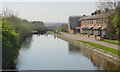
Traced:
[[21, 18], [44, 22], [67, 22], [69, 16], [90, 15], [97, 9], [96, 2], [4, 2], [2, 4], [2, 8], [13, 10]]

